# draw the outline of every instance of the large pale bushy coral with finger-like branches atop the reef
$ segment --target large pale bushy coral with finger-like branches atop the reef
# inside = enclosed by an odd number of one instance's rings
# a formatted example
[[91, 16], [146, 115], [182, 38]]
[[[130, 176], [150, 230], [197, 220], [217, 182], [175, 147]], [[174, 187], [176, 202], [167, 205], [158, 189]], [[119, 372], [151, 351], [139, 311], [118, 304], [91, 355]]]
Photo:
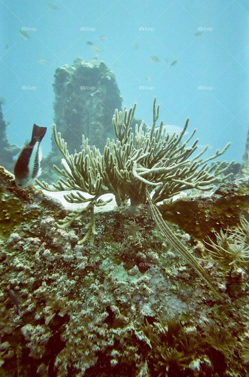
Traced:
[[[180, 192], [196, 188], [210, 190], [213, 184], [224, 181], [226, 173], [233, 162], [228, 164], [221, 162], [208, 166], [207, 162], [222, 155], [229, 147], [228, 143], [222, 151], [217, 150], [215, 155], [200, 159], [200, 156], [208, 149], [206, 146], [196, 156], [190, 156], [196, 151], [198, 139], [192, 146], [186, 147], [193, 137], [194, 130], [187, 141], [181, 143], [182, 137], [188, 127], [188, 118], [181, 133], [169, 135], [163, 129], [161, 121], [156, 130], [156, 121], [159, 118], [159, 105], [156, 107], [156, 98], [153, 102], [153, 124], [149, 130], [143, 130], [144, 121], [140, 126], [136, 124], [135, 133], [132, 132], [131, 122], [134, 117], [136, 104], [130, 108], [124, 108], [123, 112], [115, 110], [112, 125], [116, 141], [108, 138], [103, 155], [96, 146], [91, 150], [88, 138], [82, 135], [82, 151], [70, 155], [67, 143], [61, 138], [61, 134], [53, 125], [55, 143], [63, 156], [62, 169], [54, 165], [56, 172], [62, 177], [57, 184], [49, 186], [46, 182], [36, 183], [48, 191], [76, 190], [76, 193], [65, 195], [70, 203], [86, 203], [88, 205], [77, 213], [71, 213], [65, 219], [59, 220], [58, 227], [64, 228], [74, 220], [80, 224], [80, 219], [90, 214], [90, 222], [87, 225], [85, 237], [94, 242], [96, 234], [94, 222], [94, 206], [106, 205], [109, 201], [103, 201], [100, 196], [112, 193], [118, 206], [131, 200], [131, 208], [136, 209], [146, 202], [146, 188], [149, 192], [155, 190], [153, 203], [171, 198]], [[88, 193], [92, 198], [85, 198], [82, 193]], [[137, 209], [138, 210], [138, 209]]]

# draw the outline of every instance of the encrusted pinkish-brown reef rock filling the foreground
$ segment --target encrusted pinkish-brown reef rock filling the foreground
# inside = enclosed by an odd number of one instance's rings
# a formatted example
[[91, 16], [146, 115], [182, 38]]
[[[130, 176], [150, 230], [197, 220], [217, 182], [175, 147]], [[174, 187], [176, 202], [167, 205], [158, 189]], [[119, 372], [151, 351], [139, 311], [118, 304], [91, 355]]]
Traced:
[[[155, 228], [147, 206], [135, 218], [96, 213], [94, 245], [78, 245], [86, 219], [59, 229], [56, 219], [68, 213], [58, 203], [16, 189], [4, 170], [0, 177], [9, 201], [23, 195], [23, 221], [0, 240], [2, 375], [246, 377], [246, 273], [238, 284], [236, 268], [222, 274], [202, 256], [217, 296]], [[201, 239], [169, 228], [193, 253]]]

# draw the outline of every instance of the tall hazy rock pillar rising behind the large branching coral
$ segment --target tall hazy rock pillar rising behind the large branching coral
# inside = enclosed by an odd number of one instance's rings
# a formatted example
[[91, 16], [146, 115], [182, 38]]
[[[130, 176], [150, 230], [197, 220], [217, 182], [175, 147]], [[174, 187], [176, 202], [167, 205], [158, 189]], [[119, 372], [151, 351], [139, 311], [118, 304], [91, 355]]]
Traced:
[[[114, 73], [103, 61], [77, 58], [72, 67], [56, 69], [53, 88], [54, 121], [70, 153], [80, 150], [82, 134], [103, 150], [106, 138], [114, 137], [112, 115], [122, 106]], [[52, 152], [58, 153], [53, 140]]]

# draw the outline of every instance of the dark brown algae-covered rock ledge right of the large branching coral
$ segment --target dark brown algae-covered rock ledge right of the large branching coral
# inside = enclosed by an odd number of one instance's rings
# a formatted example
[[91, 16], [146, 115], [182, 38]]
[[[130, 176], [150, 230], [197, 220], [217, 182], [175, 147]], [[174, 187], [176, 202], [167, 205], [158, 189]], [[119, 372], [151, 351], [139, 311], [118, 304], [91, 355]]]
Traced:
[[214, 231], [236, 227], [241, 214], [248, 216], [249, 182], [247, 179], [226, 182], [211, 195], [179, 198], [162, 204], [160, 210], [164, 220], [178, 224], [194, 238], [207, 240], [210, 236], [215, 240]]

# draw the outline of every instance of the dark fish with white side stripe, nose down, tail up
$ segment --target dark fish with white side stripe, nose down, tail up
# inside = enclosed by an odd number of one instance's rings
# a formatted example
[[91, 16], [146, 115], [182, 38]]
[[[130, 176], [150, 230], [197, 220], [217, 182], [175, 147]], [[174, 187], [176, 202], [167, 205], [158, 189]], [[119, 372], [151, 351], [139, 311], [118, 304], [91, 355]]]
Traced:
[[42, 153], [40, 143], [47, 127], [33, 125], [31, 141], [24, 145], [14, 167], [15, 184], [18, 189], [24, 189], [41, 175]]

